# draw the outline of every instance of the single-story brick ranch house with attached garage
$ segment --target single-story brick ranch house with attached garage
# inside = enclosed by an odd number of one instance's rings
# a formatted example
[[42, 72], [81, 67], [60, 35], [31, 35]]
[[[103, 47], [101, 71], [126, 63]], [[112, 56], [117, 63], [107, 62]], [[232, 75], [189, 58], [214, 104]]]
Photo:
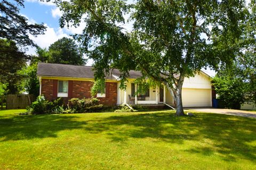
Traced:
[[[113, 106], [123, 103], [143, 105], [174, 106], [170, 92], [162, 87], [150, 88], [143, 95], [135, 96], [137, 86], [133, 81], [141, 77], [138, 71], [130, 71], [126, 90], [119, 89], [120, 72], [114, 69], [111, 75], [106, 76], [105, 91], [99, 91], [97, 98], [105, 105]], [[91, 66], [75, 66], [65, 64], [38, 63], [37, 77], [40, 82], [40, 94], [46, 99], [57, 97], [90, 98], [91, 87], [94, 81], [94, 71]], [[204, 72], [195, 77], [185, 78], [182, 88], [183, 107], [211, 107], [212, 86], [210, 76]]]

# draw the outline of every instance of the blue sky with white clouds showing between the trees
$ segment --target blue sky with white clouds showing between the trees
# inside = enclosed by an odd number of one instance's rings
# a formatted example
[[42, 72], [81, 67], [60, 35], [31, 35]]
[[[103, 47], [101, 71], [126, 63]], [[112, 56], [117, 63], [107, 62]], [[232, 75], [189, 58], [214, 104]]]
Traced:
[[[20, 8], [20, 14], [26, 16], [30, 23], [44, 23], [46, 28], [44, 35], [37, 37], [30, 36], [35, 43], [42, 48], [49, 47], [52, 43], [62, 37], [69, 37], [74, 33], [82, 33], [85, 23], [81, 23], [78, 28], [60, 28], [59, 19], [61, 12], [59, 8], [51, 2], [41, 2], [38, 0], [25, 0], [24, 8]], [[124, 25], [127, 30], [130, 30], [132, 23]], [[36, 54], [35, 48], [29, 47], [27, 54]], [[92, 65], [93, 61], [87, 61], [86, 65]], [[213, 70], [207, 68], [203, 71], [212, 77], [215, 75]]]

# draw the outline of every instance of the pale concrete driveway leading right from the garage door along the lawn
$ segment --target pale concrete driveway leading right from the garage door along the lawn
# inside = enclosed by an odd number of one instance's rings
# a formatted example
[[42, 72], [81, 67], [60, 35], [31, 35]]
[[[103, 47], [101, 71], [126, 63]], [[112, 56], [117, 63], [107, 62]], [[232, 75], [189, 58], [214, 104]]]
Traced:
[[197, 111], [197, 112], [206, 112], [206, 113], [217, 113], [217, 114], [226, 114], [226, 115], [234, 115], [234, 116], [243, 116], [243, 117], [253, 117], [256, 118], [256, 112], [250, 111], [241, 111], [241, 110], [234, 110], [234, 109], [223, 109], [223, 108], [186, 108], [190, 111]]

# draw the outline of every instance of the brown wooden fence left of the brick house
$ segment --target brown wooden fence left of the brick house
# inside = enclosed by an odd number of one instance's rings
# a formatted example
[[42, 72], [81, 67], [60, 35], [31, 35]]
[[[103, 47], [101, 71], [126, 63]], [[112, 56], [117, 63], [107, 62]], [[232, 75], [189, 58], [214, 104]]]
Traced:
[[7, 95], [6, 109], [24, 109], [35, 101], [34, 95]]

